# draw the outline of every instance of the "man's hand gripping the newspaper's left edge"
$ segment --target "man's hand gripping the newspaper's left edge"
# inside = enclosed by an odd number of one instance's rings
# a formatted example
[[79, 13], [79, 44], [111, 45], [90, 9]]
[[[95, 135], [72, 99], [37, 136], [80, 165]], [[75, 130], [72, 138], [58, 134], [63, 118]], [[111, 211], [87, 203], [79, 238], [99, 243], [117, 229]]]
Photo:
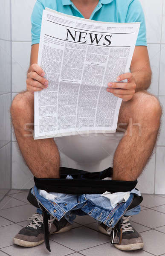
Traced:
[[45, 72], [38, 64], [32, 64], [29, 71], [26, 79], [28, 91], [38, 92], [48, 87], [48, 81], [43, 77], [45, 76]]

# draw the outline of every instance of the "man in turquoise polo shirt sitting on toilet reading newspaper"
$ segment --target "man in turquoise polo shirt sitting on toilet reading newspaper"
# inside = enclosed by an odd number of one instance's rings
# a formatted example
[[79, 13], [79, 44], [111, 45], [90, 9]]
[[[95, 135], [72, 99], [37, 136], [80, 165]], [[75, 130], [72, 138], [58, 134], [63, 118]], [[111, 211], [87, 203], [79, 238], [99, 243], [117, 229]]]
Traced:
[[[120, 125], [120, 128], [126, 131], [114, 155], [113, 180], [136, 180], [152, 154], [162, 114], [158, 99], [145, 91], [151, 83], [151, 68], [146, 44], [145, 18], [139, 0], [37, 0], [31, 17], [32, 50], [26, 80], [27, 91], [19, 93], [11, 107], [17, 142], [29, 169], [35, 177], [59, 177], [60, 157], [53, 138], [34, 140], [31, 136], [25, 137], [24, 134], [28, 132], [23, 129], [25, 123], [33, 123], [34, 92], [49, 86], [48, 81], [44, 79], [44, 70], [37, 64], [42, 11], [45, 7], [93, 20], [141, 22], [130, 66], [131, 73], [121, 74], [116, 78], [117, 81], [127, 79], [127, 83], [110, 81], [107, 84], [107, 93], [113, 93], [123, 99], [118, 124], [126, 124]], [[133, 123], [139, 125], [132, 125]], [[20, 230], [14, 237], [14, 243], [31, 247], [44, 241], [43, 219], [40, 213], [31, 217], [31, 224]], [[49, 224], [50, 234], [65, 232], [71, 228], [65, 218], [60, 221], [50, 218]], [[108, 227], [104, 224], [99, 226], [99, 230], [108, 235]], [[132, 228], [127, 215], [122, 217], [122, 229], [122, 241], [115, 245], [118, 249], [136, 250], [143, 247], [142, 238]]]

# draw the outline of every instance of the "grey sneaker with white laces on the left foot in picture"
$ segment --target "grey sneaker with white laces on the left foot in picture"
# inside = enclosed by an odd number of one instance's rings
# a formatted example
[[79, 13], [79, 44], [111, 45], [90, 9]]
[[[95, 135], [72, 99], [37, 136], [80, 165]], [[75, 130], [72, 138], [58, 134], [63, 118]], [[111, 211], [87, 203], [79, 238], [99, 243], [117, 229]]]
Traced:
[[[13, 243], [24, 247], [34, 247], [44, 242], [43, 217], [42, 214], [35, 213], [28, 218], [32, 221], [20, 230], [13, 238]], [[49, 215], [49, 235], [62, 233], [71, 230], [72, 225], [63, 217], [60, 221]]]

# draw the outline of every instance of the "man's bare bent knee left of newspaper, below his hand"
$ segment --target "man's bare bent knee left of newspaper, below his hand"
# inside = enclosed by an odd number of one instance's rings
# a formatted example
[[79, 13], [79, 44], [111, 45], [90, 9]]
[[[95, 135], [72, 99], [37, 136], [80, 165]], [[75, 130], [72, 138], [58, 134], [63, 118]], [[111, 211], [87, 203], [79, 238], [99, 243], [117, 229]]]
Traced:
[[13, 117], [21, 116], [21, 114], [25, 115], [28, 110], [28, 106], [32, 105], [32, 101], [34, 101], [34, 96], [32, 93], [25, 92], [17, 94], [10, 107], [10, 112]]

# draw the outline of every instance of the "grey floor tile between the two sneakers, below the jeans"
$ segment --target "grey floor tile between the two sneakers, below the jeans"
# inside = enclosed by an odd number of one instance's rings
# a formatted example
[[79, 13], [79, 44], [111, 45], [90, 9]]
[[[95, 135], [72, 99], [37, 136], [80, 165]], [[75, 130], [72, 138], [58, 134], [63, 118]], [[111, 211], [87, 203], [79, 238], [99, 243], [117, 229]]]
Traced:
[[62, 234], [51, 236], [51, 240], [73, 249], [83, 250], [109, 241], [109, 237], [87, 227], [78, 227]]

